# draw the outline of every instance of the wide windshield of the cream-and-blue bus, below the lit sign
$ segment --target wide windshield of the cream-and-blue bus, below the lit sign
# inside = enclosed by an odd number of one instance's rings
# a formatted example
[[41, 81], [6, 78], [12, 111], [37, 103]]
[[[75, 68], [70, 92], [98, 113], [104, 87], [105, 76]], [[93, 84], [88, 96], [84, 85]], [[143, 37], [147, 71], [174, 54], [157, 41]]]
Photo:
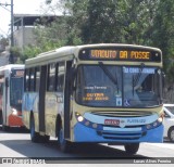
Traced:
[[76, 102], [96, 107], [152, 107], [161, 103], [160, 75], [157, 67], [79, 65]]

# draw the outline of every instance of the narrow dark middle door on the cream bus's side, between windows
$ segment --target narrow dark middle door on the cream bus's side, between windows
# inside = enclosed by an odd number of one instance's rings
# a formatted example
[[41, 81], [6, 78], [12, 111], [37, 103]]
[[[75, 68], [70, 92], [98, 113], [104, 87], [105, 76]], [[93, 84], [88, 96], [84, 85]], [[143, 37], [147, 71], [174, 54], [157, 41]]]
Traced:
[[39, 131], [45, 132], [45, 95], [47, 82], [47, 66], [41, 66], [40, 72], [40, 89], [39, 89]]

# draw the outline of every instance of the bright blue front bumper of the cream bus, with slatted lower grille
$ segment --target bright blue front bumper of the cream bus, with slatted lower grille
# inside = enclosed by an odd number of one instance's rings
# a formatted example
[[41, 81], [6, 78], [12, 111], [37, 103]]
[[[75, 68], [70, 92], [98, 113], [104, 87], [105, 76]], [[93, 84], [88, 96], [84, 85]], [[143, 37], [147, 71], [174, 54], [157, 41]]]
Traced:
[[[135, 130], [135, 131], [134, 131]], [[163, 124], [150, 130], [129, 130], [120, 128], [114, 130], [98, 130], [77, 123], [74, 127], [74, 142], [98, 142], [98, 143], [139, 143], [139, 142], [163, 142]]]

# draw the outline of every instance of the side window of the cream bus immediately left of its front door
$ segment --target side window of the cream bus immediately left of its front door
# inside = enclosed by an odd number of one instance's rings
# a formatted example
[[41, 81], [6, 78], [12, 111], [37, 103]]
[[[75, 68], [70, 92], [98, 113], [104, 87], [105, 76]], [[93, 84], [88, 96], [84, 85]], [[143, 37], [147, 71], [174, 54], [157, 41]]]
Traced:
[[57, 77], [57, 91], [63, 92], [64, 88], [64, 69], [65, 63], [60, 62], [58, 67], [58, 77]]

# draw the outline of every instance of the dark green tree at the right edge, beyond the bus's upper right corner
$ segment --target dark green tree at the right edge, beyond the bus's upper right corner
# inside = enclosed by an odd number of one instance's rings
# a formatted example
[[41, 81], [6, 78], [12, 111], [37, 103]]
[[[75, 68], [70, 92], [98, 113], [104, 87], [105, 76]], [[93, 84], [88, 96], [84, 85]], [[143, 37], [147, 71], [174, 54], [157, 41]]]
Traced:
[[153, 46], [163, 52], [164, 69], [169, 78], [174, 80], [174, 1], [160, 0], [153, 24]]

